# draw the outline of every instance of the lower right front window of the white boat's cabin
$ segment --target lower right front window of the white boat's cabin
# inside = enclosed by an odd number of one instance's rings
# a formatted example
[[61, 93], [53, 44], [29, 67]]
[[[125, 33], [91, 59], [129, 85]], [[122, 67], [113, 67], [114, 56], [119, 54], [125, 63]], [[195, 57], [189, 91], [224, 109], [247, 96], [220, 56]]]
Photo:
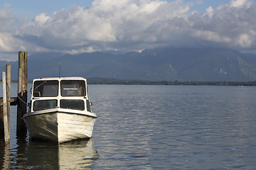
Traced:
[[79, 111], [85, 110], [85, 102], [82, 100], [60, 100], [60, 108], [75, 109]]

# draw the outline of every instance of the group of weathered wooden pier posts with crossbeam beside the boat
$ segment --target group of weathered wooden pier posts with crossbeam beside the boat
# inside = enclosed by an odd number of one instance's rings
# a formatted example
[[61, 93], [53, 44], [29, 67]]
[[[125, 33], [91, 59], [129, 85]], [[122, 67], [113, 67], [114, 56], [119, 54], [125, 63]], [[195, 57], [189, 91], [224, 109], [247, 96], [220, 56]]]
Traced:
[[10, 141], [10, 106], [17, 105], [17, 137], [26, 137], [26, 124], [23, 115], [26, 113], [28, 94], [28, 53], [18, 52], [18, 97], [11, 98], [11, 65], [6, 65], [6, 72], [2, 73], [3, 98], [0, 97], [0, 137], [5, 142]]

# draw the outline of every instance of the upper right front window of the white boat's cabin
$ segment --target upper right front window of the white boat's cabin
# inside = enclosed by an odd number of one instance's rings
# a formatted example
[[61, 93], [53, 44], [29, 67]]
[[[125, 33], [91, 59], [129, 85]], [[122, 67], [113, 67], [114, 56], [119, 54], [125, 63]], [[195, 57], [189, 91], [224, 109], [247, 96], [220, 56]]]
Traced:
[[60, 81], [61, 96], [85, 96], [85, 81], [62, 80]]

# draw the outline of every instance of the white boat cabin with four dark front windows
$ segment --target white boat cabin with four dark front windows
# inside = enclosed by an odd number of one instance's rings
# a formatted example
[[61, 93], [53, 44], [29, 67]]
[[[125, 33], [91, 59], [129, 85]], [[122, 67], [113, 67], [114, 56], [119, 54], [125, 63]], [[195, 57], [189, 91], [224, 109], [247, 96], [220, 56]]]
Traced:
[[82, 77], [34, 79], [31, 112], [50, 108], [91, 111], [87, 82]]

